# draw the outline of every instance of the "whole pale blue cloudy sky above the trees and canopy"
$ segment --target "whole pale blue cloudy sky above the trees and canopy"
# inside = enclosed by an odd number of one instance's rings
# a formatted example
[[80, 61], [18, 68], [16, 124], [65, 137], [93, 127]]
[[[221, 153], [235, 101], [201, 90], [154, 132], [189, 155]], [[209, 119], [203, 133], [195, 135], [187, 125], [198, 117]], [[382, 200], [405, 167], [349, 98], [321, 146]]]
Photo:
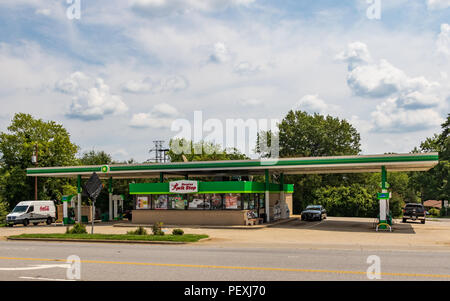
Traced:
[[376, 154], [409, 152], [449, 112], [450, 0], [79, 2], [80, 19], [67, 1], [0, 3], [0, 130], [27, 112], [143, 161], [194, 110], [301, 109], [349, 120]]

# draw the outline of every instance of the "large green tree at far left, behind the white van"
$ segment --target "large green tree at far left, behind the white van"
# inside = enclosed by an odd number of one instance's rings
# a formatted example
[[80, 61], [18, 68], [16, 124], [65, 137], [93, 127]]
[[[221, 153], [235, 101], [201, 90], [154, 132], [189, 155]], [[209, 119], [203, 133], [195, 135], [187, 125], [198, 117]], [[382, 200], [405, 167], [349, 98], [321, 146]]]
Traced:
[[[38, 166], [76, 165], [78, 146], [62, 125], [35, 119], [24, 113], [14, 115], [6, 132], [0, 133], [0, 197], [9, 207], [19, 201], [34, 199], [34, 178], [26, 169], [34, 167], [31, 156], [38, 147]], [[39, 199], [59, 199], [69, 179], [38, 178]]]

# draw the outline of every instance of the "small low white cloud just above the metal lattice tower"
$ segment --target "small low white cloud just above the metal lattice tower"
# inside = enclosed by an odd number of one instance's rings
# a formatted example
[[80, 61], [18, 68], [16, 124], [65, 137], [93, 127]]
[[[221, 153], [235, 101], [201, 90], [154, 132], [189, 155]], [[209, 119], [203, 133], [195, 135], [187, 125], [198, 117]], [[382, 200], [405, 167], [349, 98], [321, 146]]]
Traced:
[[155, 105], [150, 113], [133, 114], [129, 125], [134, 128], [170, 128], [173, 119], [179, 115], [175, 107], [161, 103]]

